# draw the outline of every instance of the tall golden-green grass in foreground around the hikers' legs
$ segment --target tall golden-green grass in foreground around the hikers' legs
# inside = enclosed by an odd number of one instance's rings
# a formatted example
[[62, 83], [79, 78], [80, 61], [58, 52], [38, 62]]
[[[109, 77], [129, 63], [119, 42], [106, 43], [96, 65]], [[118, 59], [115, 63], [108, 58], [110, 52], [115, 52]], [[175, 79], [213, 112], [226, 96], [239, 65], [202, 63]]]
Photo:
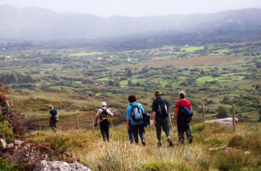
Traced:
[[[175, 127], [174, 127], [175, 128]], [[176, 129], [176, 128], [175, 128]], [[232, 127], [219, 124], [192, 124], [194, 142], [177, 145], [177, 131], [172, 132], [172, 148], [162, 135], [163, 147], [157, 147], [155, 128], [146, 128], [146, 146], [129, 144], [125, 125], [110, 129], [110, 142], [103, 142], [96, 131], [68, 130], [37, 133], [35, 141], [48, 142], [57, 156], [61, 151], [72, 153], [75, 161], [91, 170], [251, 170], [260, 169], [260, 128], [237, 125], [237, 134]], [[232, 151], [224, 151], [225, 147]], [[220, 147], [220, 151], [209, 148]], [[239, 151], [237, 151], [239, 150]], [[250, 154], [244, 152], [248, 150]]]

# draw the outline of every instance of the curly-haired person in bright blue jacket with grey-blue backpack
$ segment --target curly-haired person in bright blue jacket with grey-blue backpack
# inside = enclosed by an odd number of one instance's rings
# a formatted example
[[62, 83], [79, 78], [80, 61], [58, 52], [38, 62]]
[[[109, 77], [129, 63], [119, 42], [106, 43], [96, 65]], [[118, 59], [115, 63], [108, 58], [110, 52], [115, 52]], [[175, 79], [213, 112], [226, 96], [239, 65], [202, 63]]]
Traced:
[[[142, 142], [143, 146], [145, 146], [146, 145], [145, 129], [144, 129], [144, 125], [143, 125], [143, 119], [138, 118], [138, 117], [140, 117], [139, 115], [141, 115], [141, 111], [144, 111], [144, 109], [141, 106], [141, 104], [136, 103], [137, 98], [135, 95], [129, 95], [128, 101], [130, 102], [130, 105], [127, 107], [127, 113], [126, 113], [127, 129], [132, 130], [136, 145], [139, 145], [139, 137], [138, 137], [138, 133], [139, 133], [141, 142]], [[137, 105], [136, 108], [135, 108], [135, 105]], [[134, 112], [134, 110], [136, 112]], [[134, 113], [136, 113], [136, 114], [134, 114]], [[134, 119], [134, 117], [132, 117], [131, 115], [135, 115], [136, 119]], [[142, 115], [141, 115], [141, 118], [142, 118]], [[131, 122], [131, 128], [129, 126], [129, 122]]]

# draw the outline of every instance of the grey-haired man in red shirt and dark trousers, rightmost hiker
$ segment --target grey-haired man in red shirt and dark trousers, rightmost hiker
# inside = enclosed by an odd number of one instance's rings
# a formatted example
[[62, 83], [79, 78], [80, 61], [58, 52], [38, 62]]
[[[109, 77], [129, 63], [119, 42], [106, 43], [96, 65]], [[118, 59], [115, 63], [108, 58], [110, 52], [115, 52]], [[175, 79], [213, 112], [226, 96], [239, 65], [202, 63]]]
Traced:
[[177, 124], [178, 133], [179, 133], [179, 144], [184, 143], [184, 132], [186, 132], [189, 143], [192, 143], [193, 135], [190, 130], [190, 121], [192, 116], [185, 116], [184, 113], [180, 110], [180, 105], [186, 107], [192, 113], [192, 107], [190, 101], [185, 99], [186, 93], [184, 91], [179, 92], [179, 101], [175, 104], [175, 113], [174, 113], [174, 124]]

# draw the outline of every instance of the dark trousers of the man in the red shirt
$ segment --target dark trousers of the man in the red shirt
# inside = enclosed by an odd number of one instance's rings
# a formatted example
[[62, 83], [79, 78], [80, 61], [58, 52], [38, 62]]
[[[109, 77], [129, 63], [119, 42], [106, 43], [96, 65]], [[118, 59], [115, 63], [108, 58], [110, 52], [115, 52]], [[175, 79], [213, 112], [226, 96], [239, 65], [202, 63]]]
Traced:
[[179, 133], [179, 140], [178, 140], [179, 144], [184, 143], [184, 133], [186, 133], [189, 143], [192, 143], [193, 135], [191, 133], [189, 123], [178, 122], [177, 126], [178, 126], [178, 133]]

